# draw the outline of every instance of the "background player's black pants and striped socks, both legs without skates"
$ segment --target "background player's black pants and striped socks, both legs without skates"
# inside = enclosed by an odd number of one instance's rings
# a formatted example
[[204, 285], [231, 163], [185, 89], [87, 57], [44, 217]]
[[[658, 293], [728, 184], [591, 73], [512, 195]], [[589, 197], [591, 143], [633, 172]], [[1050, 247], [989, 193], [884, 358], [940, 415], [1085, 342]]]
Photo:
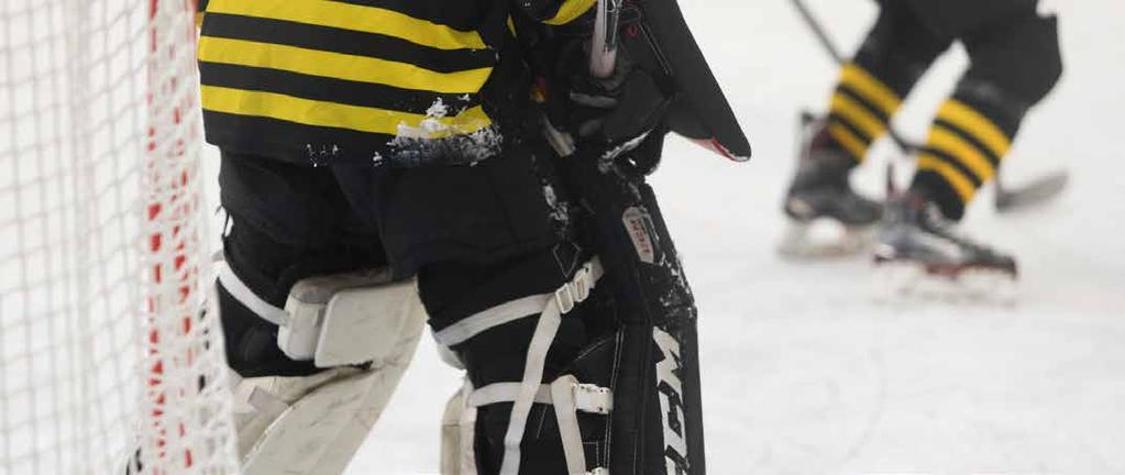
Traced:
[[[897, 107], [888, 104], [907, 97], [954, 42], [965, 46], [970, 66], [938, 113], [911, 186], [947, 217], [960, 219], [968, 201], [1000, 167], [1027, 110], [1062, 74], [1056, 19], [1038, 16], [1038, 0], [878, 1], [882, 10], [854, 64], [894, 97], [883, 93], [881, 101], [868, 100], [872, 95], [855, 86], [861, 81], [848, 84], [847, 79], [837, 93], [870, 110], [885, 127]], [[876, 138], [864, 122], [835, 118], [854, 137], [842, 142], [853, 155], [865, 153]], [[942, 143], [933, 142], [935, 137]], [[969, 147], [975, 152], [963, 152]]]

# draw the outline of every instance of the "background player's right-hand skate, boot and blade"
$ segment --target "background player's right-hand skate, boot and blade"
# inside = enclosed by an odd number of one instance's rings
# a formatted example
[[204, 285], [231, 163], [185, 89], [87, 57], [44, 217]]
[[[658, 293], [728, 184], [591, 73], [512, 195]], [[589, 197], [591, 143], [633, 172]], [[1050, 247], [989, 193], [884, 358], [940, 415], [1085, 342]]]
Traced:
[[962, 236], [937, 205], [906, 192], [891, 199], [879, 231], [876, 285], [888, 297], [1010, 303], [1015, 258]]

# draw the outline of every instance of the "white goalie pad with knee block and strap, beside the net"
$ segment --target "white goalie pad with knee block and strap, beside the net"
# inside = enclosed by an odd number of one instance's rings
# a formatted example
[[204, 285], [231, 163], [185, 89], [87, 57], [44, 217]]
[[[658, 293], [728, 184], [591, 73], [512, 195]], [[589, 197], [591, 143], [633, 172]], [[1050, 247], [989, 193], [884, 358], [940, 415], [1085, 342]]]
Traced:
[[[273, 343], [308, 375], [235, 378], [243, 473], [339, 474], [413, 358], [424, 312], [413, 280], [380, 272], [306, 279], [262, 306], [228, 271], [222, 288], [277, 324]], [[268, 305], [268, 304], [267, 304]]]

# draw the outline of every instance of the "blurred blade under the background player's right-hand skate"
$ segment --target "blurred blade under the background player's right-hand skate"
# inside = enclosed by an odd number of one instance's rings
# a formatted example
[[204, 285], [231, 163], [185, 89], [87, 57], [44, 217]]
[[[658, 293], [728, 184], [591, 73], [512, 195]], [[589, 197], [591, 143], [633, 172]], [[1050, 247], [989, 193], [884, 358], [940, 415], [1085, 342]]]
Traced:
[[984, 269], [968, 269], [955, 276], [927, 271], [915, 262], [876, 262], [872, 279], [878, 302], [945, 302], [1015, 306], [1018, 281], [1015, 276]]

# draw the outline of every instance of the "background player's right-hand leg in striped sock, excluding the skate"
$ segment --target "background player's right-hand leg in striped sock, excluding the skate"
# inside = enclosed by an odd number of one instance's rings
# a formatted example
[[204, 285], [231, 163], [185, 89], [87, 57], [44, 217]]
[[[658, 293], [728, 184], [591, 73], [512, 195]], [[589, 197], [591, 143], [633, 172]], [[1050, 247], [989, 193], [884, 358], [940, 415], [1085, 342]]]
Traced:
[[919, 12], [933, 16], [937, 28], [957, 34], [971, 60], [938, 110], [911, 187], [956, 221], [996, 176], [1027, 110], [1059, 80], [1059, 35], [1055, 18], [1041, 18], [1035, 1], [918, 3], [927, 5]]

